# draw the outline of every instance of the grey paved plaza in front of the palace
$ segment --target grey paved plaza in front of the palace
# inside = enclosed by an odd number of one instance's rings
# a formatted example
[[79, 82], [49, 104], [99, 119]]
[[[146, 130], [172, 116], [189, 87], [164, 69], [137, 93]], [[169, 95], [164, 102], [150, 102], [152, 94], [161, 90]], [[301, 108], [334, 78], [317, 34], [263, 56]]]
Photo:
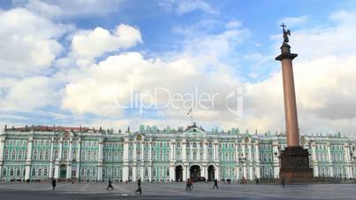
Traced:
[[135, 183], [0, 183], [0, 199], [356, 199], [354, 184], [241, 185], [197, 183], [191, 192], [184, 183], [143, 183], [143, 195], [135, 195]]

